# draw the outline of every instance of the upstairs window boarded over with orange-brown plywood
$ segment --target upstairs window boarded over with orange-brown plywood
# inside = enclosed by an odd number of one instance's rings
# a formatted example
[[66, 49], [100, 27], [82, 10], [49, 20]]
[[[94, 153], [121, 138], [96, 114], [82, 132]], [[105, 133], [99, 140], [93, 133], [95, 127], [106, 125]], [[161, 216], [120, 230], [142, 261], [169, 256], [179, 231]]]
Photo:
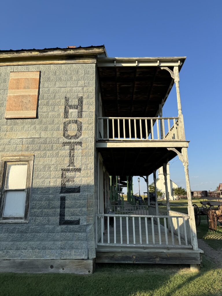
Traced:
[[40, 71], [10, 72], [5, 118], [36, 118]]

